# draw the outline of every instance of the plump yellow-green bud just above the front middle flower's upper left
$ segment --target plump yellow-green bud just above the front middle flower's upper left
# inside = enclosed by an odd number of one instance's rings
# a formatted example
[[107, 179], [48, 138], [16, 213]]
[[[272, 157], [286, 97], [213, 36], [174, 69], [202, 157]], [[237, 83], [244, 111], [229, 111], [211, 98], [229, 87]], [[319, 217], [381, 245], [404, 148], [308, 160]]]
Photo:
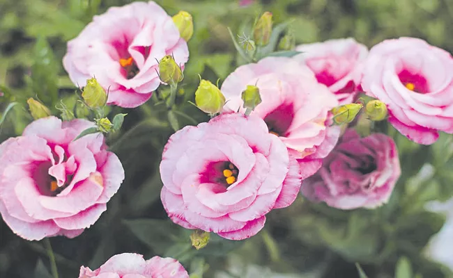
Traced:
[[222, 111], [225, 105], [225, 97], [216, 85], [202, 79], [195, 92], [195, 104], [201, 111], [215, 115]]

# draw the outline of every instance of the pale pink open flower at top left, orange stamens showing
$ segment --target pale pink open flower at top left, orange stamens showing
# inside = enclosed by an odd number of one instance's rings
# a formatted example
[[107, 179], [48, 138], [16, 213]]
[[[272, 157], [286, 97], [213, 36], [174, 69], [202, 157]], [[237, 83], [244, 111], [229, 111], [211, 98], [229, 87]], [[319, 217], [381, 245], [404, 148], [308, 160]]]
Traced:
[[173, 19], [153, 1], [134, 2], [95, 16], [68, 42], [63, 65], [75, 84], [95, 76], [109, 90], [107, 104], [132, 108], [160, 85], [158, 60], [166, 55], [181, 67], [189, 56]]

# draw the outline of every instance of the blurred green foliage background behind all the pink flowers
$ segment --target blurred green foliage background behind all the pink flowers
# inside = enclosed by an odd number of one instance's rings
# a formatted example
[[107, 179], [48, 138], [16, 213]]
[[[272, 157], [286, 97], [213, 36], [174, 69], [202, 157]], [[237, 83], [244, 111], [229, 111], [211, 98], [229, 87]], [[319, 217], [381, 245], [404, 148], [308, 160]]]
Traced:
[[[43, 101], [55, 115], [61, 113], [59, 101], [69, 111], [77, 111], [77, 88], [61, 65], [66, 42], [93, 15], [129, 2], [0, 1], [1, 140], [19, 135], [31, 122], [25, 105], [28, 97]], [[107, 138], [121, 158], [126, 179], [91, 229], [72, 240], [51, 239], [61, 277], [77, 277], [80, 265], [98, 268], [121, 252], [137, 252], [146, 258], [173, 256], [192, 278], [364, 277], [364, 273], [370, 278], [453, 277], [445, 266], [424, 256], [429, 238], [445, 221], [443, 215], [425, 211], [424, 206], [453, 196], [451, 136], [443, 134], [436, 144], [426, 147], [410, 142], [391, 126], [381, 126], [397, 142], [402, 167], [389, 204], [374, 211], [338, 211], [300, 197], [289, 208], [270, 213], [266, 230], [259, 235], [242, 242], [211, 235], [202, 250], [191, 247], [190, 231], [167, 219], [160, 204], [158, 174], [171, 126], [208, 120], [187, 104], [194, 99], [197, 75], [222, 83], [237, 65], [245, 63], [228, 27], [234, 35], [249, 32], [254, 19], [269, 10], [276, 24], [291, 20], [289, 31], [298, 44], [351, 36], [371, 47], [387, 38], [413, 36], [452, 51], [453, 1], [262, 0], [247, 8], [240, 8], [236, 0], [156, 2], [170, 15], [186, 10], [194, 18], [179, 109], [167, 115], [157, 94], [134, 111], [112, 108], [115, 113], [128, 113], [123, 131]], [[159, 95], [165, 94], [168, 89], [160, 88]], [[362, 266], [360, 276], [355, 263]], [[18, 238], [0, 222], [0, 276], [45, 278], [49, 277], [47, 269], [43, 245]]]

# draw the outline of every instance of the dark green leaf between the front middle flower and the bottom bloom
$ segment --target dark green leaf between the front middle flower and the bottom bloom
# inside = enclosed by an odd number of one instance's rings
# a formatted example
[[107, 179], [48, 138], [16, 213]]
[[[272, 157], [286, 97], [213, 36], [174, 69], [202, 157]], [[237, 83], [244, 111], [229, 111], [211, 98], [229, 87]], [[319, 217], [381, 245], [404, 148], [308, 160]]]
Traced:
[[[180, 236], [179, 227], [169, 220], [123, 220], [123, 224], [156, 254], [164, 254]], [[188, 237], [187, 240], [189, 240]], [[190, 247], [189, 241], [187, 245]]]

